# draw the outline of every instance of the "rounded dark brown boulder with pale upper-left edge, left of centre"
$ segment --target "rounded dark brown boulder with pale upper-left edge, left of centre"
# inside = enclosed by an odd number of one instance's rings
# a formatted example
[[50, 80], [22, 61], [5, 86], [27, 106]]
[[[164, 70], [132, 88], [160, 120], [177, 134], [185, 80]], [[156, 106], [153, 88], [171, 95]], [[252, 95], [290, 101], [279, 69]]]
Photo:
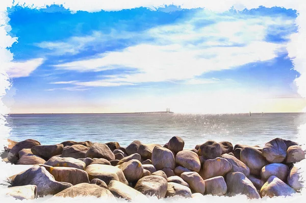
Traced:
[[118, 168], [120, 168], [123, 171], [124, 176], [127, 182], [129, 183], [138, 181], [139, 179], [141, 179], [143, 174], [143, 167], [140, 161], [136, 159], [124, 162], [121, 165], [118, 165]]

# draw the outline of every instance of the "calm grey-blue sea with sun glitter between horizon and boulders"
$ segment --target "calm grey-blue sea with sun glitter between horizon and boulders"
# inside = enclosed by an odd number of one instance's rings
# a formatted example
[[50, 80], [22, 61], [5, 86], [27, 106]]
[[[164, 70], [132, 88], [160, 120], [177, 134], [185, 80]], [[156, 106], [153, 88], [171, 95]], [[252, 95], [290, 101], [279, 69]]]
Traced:
[[249, 145], [264, 145], [276, 137], [296, 140], [306, 114], [11, 114], [7, 121], [10, 139], [16, 141], [117, 141], [127, 146], [133, 140], [165, 144], [177, 135], [185, 148], [193, 148], [207, 140]]

